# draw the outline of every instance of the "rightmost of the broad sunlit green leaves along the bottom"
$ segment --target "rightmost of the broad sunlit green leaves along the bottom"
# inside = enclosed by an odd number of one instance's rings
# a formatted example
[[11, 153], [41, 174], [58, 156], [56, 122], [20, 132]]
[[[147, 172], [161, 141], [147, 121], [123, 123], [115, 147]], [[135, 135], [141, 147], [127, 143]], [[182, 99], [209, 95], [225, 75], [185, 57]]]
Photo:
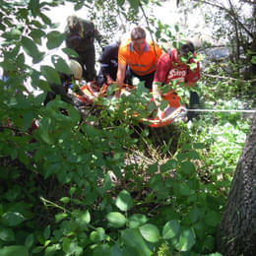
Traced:
[[195, 244], [195, 234], [191, 228], [183, 229], [179, 235], [178, 243], [175, 247], [179, 251], [189, 251]]

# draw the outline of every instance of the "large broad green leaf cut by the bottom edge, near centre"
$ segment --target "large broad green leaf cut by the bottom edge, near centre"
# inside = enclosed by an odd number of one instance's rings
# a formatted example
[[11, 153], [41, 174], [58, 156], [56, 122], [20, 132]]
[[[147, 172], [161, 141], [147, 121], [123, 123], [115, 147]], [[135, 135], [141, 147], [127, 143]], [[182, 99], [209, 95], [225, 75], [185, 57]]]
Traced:
[[147, 246], [145, 240], [137, 228], [128, 228], [121, 231], [121, 239], [126, 246], [137, 248], [138, 252], [141, 252], [138, 255], [152, 255], [152, 251]]

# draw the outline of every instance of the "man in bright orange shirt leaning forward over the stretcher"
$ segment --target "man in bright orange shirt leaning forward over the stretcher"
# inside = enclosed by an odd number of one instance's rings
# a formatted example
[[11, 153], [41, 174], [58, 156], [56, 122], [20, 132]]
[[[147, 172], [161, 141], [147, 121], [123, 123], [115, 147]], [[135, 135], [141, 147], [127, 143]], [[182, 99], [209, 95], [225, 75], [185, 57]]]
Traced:
[[[116, 85], [119, 89], [115, 96], [120, 96], [125, 76], [137, 77], [145, 82], [145, 87], [152, 89], [155, 71], [161, 55], [160, 46], [146, 40], [146, 32], [136, 27], [131, 32], [131, 39], [121, 43], [118, 51], [118, 71]], [[127, 71], [126, 71], [127, 68]]]

